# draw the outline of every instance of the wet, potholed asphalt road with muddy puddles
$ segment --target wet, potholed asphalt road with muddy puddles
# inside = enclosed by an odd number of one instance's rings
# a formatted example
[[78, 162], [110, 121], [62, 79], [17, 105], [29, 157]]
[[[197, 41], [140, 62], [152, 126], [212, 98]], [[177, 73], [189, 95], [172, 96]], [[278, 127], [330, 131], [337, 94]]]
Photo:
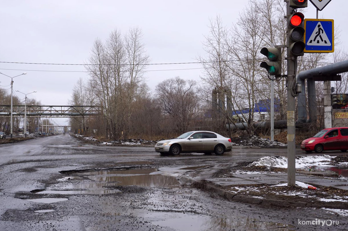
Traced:
[[[69, 135], [1, 145], [0, 230], [347, 230], [346, 217], [323, 209], [231, 202], [175, 178], [192, 166], [277, 155], [286, 148], [163, 157], [153, 147], [90, 146]], [[339, 225], [298, 224], [316, 218]]]

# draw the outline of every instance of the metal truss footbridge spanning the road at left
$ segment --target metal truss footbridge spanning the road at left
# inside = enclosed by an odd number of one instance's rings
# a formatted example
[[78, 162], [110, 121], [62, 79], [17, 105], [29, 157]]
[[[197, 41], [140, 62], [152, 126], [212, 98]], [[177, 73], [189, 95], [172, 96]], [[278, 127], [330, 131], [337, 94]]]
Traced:
[[[13, 105], [14, 117], [24, 116], [25, 105]], [[100, 113], [99, 106], [44, 106], [26, 105], [27, 117], [79, 117], [96, 116]], [[11, 105], [0, 105], [0, 117], [11, 116]]]

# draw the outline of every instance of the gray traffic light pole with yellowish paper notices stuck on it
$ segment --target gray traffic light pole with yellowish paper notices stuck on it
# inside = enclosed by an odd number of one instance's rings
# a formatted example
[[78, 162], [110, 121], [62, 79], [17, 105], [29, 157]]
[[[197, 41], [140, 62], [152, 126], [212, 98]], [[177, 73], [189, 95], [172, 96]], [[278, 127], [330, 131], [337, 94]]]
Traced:
[[[293, 14], [293, 9], [290, 7], [290, 2], [286, 2], [287, 17]], [[289, 32], [287, 30], [287, 185], [295, 185], [295, 97], [293, 95], [293, 81], [296, 79], [295, 62], [296, 58], [291, 56], [289, 48]]]

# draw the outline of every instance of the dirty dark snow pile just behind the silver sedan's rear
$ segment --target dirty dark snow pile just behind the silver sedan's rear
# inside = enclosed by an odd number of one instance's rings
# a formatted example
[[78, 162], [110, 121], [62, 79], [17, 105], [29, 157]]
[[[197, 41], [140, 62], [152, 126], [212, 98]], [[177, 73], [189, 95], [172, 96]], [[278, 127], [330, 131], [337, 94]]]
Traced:
[[232, 145], [258, 146], [258, 147], [286, 146], [285, 143], [263, 139], [263, 138], [257, 137], [256, 135], [241, 135], [239, 137], [234, 137], [232, 138]]

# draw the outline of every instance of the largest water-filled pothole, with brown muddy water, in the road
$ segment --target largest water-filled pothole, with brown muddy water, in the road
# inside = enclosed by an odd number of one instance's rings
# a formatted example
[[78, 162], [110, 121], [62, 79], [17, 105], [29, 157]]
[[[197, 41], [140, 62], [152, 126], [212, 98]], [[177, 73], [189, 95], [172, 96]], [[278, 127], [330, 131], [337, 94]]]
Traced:
[[126, 170], [81, 171], [74, 176], [58, 179], [60, 183], [46, 190], [33, 190], [37, 194], [110, 194], [142, 192], [144, 187], [176, 187], [175, 176], [156, 168]]

